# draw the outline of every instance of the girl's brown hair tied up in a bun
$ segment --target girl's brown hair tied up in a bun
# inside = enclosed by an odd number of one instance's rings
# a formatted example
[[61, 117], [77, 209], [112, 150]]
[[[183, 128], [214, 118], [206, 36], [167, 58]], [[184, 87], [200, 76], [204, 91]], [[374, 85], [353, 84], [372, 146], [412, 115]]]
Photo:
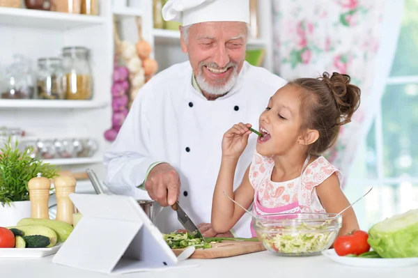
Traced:
[[302, 131], [318, 130], [319, 137], [308, 153], [320, 155], [338, 138], [341, 125], [350, 123], [360, 104], [359, 87], [350, 84], [350, 76], [324, 72], [318, 78], [299, 78], [288, 85], [302, 88]]

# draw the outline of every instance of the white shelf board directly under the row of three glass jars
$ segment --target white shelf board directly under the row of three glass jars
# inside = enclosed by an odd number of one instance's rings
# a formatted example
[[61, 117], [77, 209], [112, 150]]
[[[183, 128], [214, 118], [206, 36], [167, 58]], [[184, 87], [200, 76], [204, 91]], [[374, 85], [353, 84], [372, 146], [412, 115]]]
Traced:
[[0, 100], [0, 109], [93, 109], [103, 108], [106, 106], [107, 102], [100, 102], [95, 100]]

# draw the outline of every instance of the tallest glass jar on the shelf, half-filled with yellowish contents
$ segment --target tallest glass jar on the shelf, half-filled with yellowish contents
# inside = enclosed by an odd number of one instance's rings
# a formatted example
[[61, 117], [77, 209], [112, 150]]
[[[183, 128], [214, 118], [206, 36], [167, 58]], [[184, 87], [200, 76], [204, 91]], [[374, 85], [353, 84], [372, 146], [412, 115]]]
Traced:
[[63, 90], [66, 100], [91, 100], [93, 77], [86, 47], [64, 47]]

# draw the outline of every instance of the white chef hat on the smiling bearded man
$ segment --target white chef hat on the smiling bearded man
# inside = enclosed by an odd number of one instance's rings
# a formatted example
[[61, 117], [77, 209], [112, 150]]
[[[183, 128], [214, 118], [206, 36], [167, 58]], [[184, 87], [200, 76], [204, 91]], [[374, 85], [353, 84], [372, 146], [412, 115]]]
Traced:
[[162, 8], [162, 17], [183, 26], [221, 21], [249, 24], [249, 0], [169, 0]]

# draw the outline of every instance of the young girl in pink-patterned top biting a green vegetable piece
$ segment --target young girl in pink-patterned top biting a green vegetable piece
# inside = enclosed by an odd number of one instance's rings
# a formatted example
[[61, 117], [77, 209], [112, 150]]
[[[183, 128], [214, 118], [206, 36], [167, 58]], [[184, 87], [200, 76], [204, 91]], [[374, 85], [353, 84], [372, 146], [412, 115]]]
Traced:
[[[253, 203], [266, 213], [339, 213], [350, 205], [341, 190], [342, 175], [321, 155], [336, 141], [341, 125], [359, 107], [360, 90], [348, 75], [325, 72], [280, 88], [260, 116], [256, 152], [233, 192], [235, 167], [251, 131], [239, 123], [224, 134], [222, 162], [212, 201], [212, 229], [229, 231]], [[343, 214], [339, 235], [359, 229], [353, 208]], [[248, 227], [250, 229], [250, 227]], [[251, 234], [256, 234], [251, 228]]]

